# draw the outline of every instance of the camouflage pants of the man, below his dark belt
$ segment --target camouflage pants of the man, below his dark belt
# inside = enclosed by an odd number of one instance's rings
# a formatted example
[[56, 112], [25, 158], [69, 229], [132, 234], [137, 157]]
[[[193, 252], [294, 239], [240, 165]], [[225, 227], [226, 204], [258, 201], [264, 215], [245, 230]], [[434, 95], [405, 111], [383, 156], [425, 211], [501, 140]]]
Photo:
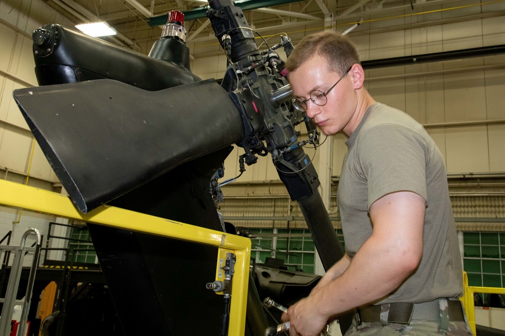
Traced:
[[424, 335], [447, 335], [447, 336], [471, 336], [467, 323], [449, 322], [447, 331], [440, 330], [439, 322], [411, 321], [410, 324], [391, 323], [382, 326], [380, 322], [362, 322], [357, 325], [353, 321], [345, 336], [424, 336]]

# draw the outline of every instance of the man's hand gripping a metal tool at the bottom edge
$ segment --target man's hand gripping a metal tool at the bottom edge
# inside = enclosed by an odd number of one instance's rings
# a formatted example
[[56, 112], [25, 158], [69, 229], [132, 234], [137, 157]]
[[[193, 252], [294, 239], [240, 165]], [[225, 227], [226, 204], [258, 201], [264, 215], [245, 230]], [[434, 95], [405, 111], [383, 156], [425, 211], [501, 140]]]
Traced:
[[311, 297], [291, 305], [282, 321], [290, 321], [289, 336], [318, 336], [326, 326], [327, 318], [315, 309]]

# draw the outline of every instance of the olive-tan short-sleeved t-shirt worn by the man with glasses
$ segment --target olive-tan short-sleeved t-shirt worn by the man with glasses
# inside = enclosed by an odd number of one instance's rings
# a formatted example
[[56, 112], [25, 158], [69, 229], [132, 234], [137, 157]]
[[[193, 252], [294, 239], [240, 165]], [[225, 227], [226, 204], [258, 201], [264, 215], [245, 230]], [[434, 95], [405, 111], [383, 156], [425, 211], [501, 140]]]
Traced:
[[376, 304], [461, 296], [463, 271], [445, 165], [423, 126], [405, 112], [374, 103], [346, 145], [338, 203], [350, 257], [372, 234], [368, 211], [377, 199], [395, 191], [413, 191], [426, 200], [419, 266]]

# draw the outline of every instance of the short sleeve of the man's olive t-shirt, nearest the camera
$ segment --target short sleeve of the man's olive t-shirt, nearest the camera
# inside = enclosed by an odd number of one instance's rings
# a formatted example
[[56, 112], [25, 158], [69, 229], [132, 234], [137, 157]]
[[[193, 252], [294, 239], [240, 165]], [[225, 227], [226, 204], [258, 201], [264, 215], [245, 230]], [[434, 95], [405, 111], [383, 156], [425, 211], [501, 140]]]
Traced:
[[396, 191], [412, 191], [428, 200], [426, 144], [418, 133], [396, 124], [376, 125], [363, 134], [358, 150], [369, 210], [377, 199]]

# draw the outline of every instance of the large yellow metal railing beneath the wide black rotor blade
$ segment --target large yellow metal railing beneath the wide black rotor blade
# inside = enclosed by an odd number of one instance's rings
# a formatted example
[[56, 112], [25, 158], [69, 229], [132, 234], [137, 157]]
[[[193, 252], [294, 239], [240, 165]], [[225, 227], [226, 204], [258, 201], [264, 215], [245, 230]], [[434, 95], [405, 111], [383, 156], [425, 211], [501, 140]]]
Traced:
[[216, 246], [218, 249], [216, 267], [219, 267], [222, 252], [232, 251], [236, 255], [236, 263], [228, 334], [229, 336], [244, 334], [250, 239], [107, 205], [82, 214], [68, 196], [4, 180], [0, 180], [0, 205]]

